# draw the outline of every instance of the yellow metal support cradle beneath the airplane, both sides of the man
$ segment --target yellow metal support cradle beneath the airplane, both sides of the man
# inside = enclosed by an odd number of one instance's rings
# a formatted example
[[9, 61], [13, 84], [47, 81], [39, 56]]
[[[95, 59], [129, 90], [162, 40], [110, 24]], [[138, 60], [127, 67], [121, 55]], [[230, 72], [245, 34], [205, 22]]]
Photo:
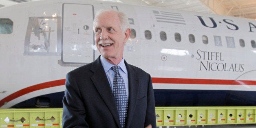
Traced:
[[[62, 108], [0, 109], [0, 128], [62, 128]], [[256, 124], [256, 106], [156, 107], [157, 126]]]

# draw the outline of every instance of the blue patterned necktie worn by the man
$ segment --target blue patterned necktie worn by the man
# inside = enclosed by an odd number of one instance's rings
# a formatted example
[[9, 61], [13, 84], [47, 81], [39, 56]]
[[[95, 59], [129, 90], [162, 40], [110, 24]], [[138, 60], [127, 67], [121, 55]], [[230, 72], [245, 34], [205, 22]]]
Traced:
[[112, 69], [115, 71], [115, 77], [113, 81], [113, 94], [115, 97], [115, 103], [119, 114], [119, 120], [121, 127], [125, 127], [126, 112], [128, 107], [128, 98], [126, 95], [126, 88], [124, 85], [124, 79], [119, 74], [119, 66], [113, 66]]

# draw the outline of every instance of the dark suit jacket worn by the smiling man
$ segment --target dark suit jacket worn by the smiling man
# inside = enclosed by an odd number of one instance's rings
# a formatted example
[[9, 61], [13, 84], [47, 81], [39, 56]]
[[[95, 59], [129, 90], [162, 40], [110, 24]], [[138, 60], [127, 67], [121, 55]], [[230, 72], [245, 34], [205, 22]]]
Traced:
[[[148, 73], [126, 64], [129, 99], [126, 128], [156, 127], [154, 92]], [[100, 57], [66, 75], [63, 128], [120, 128], [115, 99]]]

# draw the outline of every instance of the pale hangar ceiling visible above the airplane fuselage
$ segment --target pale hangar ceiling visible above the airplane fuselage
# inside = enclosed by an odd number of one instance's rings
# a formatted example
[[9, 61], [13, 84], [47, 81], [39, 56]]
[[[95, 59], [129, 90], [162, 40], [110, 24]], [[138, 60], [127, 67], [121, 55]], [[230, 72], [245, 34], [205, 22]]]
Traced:
[[[1, 0], [0, 7], [39, 0]], [[184, 11], [214, 13], [256, 20], [256, 0], [102, 0], [126, 4], [165, 7]]]

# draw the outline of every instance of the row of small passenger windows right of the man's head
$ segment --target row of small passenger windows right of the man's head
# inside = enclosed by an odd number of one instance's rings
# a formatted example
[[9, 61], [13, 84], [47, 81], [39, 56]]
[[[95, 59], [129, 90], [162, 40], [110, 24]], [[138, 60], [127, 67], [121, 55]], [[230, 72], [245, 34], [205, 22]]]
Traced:
[[[136, 31], [135, 31], [135, 29], [131, 29], [131, 31], [132, 31], [132, 33], [130, 35], [130, 38], [132, 38], [132, 39], [136, 38]], [[145, 38], [147, 40], [152, 39], [151, 31], [146, 30], [144, 32], [144, 34], [145, 34]], [[181, 34], [180, 33], [174, 33], [174, 38], [175, 38], [176, 42], [181, 42]], [[225, 38], [226, 38], [226, 42], [227, 42], [227, 47], [228, 48], [236, 48], [234, 37], [227, 37], [226, 36]], [[164, 31], [160, 32], [160, 39], [162, 41], [166, 41], [167, 40], [166, 32], [164, 32]], [[190, 43], [194, 43], [195, 42], [195, 36], [193, 34], [189, 34], [188, 35], [188, 39], [189, 39]], [[208, 44], [209, 43], [208, 37], [206, 35], [202, 36], [202, 42], [203, 42], [203, 44]], [[215, 43], [215, 46], [222, 46], [221, 36], [214, 35], [214, 43]], [[239, 44], [240, 44], [241, 47], [245, 47], [245, 41], [243, 39], [239, 40]], [[252, 45], [252, 48], [256, 48], [256, 42], [254, 40], [251, 40], [251, 45]]]

